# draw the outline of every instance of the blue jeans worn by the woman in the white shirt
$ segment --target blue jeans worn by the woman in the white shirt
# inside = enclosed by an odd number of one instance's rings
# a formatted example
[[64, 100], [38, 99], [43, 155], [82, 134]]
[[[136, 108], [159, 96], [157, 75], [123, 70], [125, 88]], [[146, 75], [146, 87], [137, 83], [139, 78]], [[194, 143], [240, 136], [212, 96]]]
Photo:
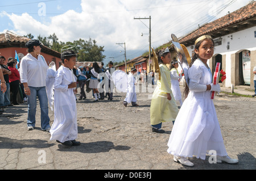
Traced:
[[46, 130], [50, 127], [46, 87], [30, 87], [30, 92], [30, 95], [27, 95], [27, 127], [35, 127], [36, 97], [38, 96], [41, 109], [41, 128]]

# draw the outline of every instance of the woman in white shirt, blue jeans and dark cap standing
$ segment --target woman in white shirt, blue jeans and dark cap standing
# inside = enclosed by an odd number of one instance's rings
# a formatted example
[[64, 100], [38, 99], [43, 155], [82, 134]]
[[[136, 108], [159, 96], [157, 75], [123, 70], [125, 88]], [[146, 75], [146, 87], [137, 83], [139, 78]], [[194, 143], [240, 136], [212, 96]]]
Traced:
[[36, 97], [38, 97], [41, 109], [41, 128], [49, 131], [48, 98], [46, 93], [47, 63], [40, 55], [42, 44], [38, 40], [29, 40], [26, 43], [28, 54], [20, 63], [20, 81], [24, 85], [24, 92], [27, 95], [28, 116], [27, 129], [35, 128]]

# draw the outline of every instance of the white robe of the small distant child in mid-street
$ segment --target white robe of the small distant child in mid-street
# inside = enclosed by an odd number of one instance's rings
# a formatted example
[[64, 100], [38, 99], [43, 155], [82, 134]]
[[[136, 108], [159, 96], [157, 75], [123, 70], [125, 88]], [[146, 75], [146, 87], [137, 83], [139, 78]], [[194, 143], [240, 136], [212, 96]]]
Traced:
[[125, 101], [127, 103], [137, 102], [137, 95], [135, 92], [135, 78], [132, 73], [129, 73], [127, 77], [127, 94]]

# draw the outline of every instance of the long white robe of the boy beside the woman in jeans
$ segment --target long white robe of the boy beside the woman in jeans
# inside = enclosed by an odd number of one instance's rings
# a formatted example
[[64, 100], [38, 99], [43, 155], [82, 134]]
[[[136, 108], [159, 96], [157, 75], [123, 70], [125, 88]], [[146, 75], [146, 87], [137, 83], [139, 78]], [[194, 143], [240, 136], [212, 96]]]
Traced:
[[55, 74], [55, 116], [50, 140], [65, 142], [77, 138], [76, 98], [73, 88], [68, 89], [72, 82], [75, 82], [73, 71], [61, 65]]

